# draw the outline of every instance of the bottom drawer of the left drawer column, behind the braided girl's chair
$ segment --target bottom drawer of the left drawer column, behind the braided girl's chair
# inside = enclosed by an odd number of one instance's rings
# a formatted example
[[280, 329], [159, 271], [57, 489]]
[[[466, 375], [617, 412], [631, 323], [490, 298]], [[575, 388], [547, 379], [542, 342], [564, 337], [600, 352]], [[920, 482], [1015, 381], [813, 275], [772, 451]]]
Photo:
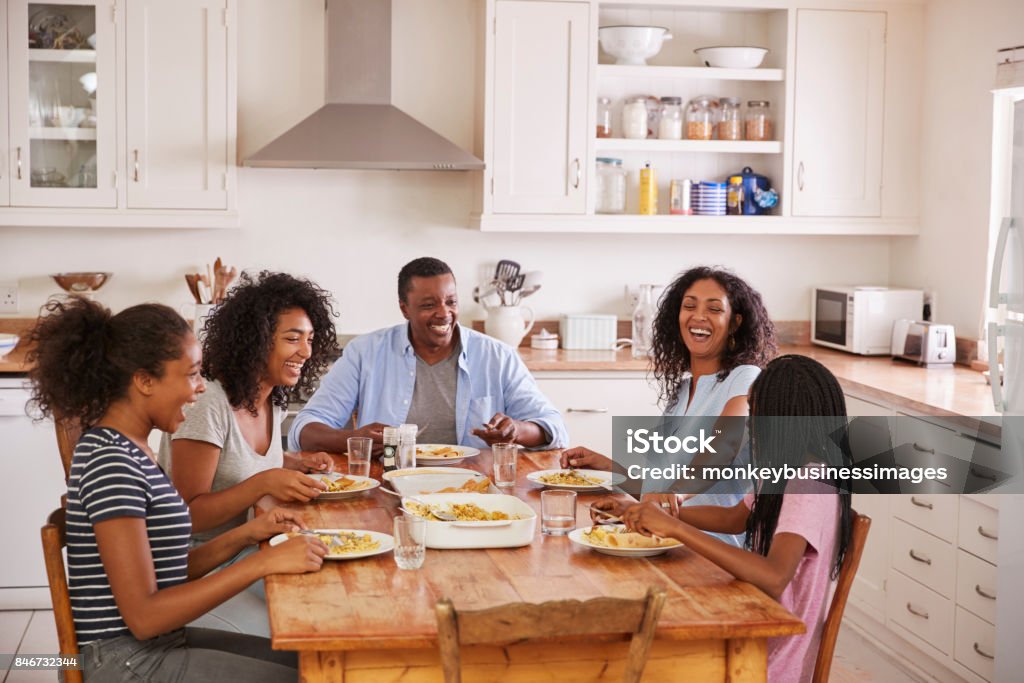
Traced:
[[953, 645], [952, 601], [895, 569], [889, 570], [887, 590], [892, 597], [886, 605], [886, 621], [949, 654]]

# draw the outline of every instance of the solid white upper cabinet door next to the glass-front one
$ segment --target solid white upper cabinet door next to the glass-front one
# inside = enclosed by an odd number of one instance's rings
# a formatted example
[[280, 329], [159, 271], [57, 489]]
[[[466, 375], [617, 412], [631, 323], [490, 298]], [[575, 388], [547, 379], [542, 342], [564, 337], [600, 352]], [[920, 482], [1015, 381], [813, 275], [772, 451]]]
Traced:
[[130, 209], [226, 209], [225, 0], [128, 0]]

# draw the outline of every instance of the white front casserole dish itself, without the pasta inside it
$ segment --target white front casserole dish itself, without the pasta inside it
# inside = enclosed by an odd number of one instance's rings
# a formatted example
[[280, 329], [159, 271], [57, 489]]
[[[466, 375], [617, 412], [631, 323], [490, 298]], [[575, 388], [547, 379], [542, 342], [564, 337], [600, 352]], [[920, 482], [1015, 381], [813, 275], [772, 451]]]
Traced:
[[[427, 548], [456, 550], [467, 548], [518, 548], [534, 541], [537, 513], [515, 496], [502, 494], [428, 494], [416, 496], [427, 505], [446, 506], [449, 503], [473, 503], [487, 512], [520, 515], [521, 519], [497, 521], [428, 521]], [[402, 498], [406, 507], [410, 499]]]

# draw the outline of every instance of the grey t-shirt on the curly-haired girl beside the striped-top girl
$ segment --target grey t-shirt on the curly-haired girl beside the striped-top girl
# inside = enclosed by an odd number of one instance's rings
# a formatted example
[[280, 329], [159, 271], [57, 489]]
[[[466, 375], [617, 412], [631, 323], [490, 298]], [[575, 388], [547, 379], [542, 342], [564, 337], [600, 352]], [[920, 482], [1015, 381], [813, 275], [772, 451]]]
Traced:
[[[167, 475], [172, 477], [171, 439], [189, 438], [212, 443], [220, 449], [220, 459], [217, 461], [217, 471], [213, 475], [213, 485], [210, 490], [230, 488], [254, 474], [284, 466], [285, 452], [281, 445], [281, 421], [284, 415], [281, 408], [273, 407], [273, 415], [270, 418], [273, 425], [270, 446], [265, 455], [260, 455], [242, 435], [223, 387], [216, 380], [211, 380], [206, 383], [206, 392], [200, 394], [199, 400], [191, 407], [185, 407], [185, 421], [178, 430], [173, 435], [164, 434], [160, 441], [157, 460], [167, 471]], [[246, 514], [243, 513], [216, 528], [194, 533], [193, 539], [198, 542], [209, 541], [245, 522]]]

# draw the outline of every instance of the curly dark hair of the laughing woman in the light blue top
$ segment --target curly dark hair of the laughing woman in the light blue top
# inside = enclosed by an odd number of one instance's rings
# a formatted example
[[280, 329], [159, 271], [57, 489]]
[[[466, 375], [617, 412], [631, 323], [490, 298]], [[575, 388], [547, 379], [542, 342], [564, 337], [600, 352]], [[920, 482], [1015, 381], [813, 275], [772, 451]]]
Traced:
[[651, 358], [654, 378], [659, 385], [659, 399], [671, 409], [679, 400], [683, 375], [690, 370], [690, 351], [683, 343], [679, 329], [679, 309], [683, 296], [698, 280], [714, 280], [729, 297], [733, 314], [742, 316], [733, 333], [735, 340], [722, 352], [722, 369], [718, 380], [724, 380], [733, 368], [750, 365], [764, 368], [778, 351], [775, 326], [768, 317], [761, 295], [742, 279], [723, 268], [696, 266], [682, 272], [665, 290], [657, 304], [651, 338]]

